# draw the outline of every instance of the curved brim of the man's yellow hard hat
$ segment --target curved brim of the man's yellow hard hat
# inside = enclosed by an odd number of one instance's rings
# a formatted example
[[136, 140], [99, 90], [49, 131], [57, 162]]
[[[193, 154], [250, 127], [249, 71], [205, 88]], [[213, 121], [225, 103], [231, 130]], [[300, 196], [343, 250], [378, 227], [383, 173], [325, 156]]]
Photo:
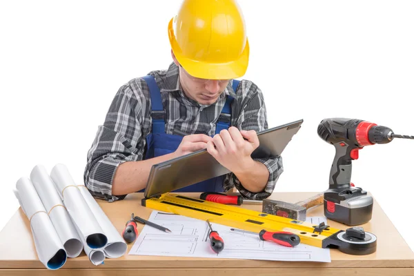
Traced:
[[235, 61], [229, 61], [226, 63], [210, 63], [204, 61], [197, 61], [194, 59], [188, 59], [182, 55], [177, 40], [175, 39], [174, 30], [172, 28], [172, 21], [168, 24], [168, 38], [170, 39], [170, 46], [172, 52], [174, 52], [177, 61], [183, 66], [188, 74], [193, 77], [201, 79], [236, 79], [242, 77], [248, 67], [249, 57], [249, 44], [246, 38], [246, 46], [240, 55], [239, 59]]

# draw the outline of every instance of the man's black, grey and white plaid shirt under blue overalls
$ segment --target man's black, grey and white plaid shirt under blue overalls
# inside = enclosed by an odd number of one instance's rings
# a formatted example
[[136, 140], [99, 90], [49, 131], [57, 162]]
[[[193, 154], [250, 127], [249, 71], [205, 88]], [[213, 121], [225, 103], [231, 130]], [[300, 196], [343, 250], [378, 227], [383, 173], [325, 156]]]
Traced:
[[[215, 122], [226, 102], [226, 95], [232, 95], [231, 125], [239, 130], [267, 129], [266, 106], [262, 91], [255, 83], [242, 80], [237, 91], [233, 91], [230, 80], [224, 93], [209, 106], [199, 105], [184, 95], [179, 83], [179, 68], [171, 63], [168, 70], [149, 73], [161, 91], [161, 99], [166, 109], [166, 133], [190, 135], [215, 134]], [[117, 166], [125, 161], [139, 161], [144, 157], [145, 137], [151, 131], [150, 92], [144, 79], [130, 80], [119, 88], [113, 99], [103, 126], [88, 150], [84, 181], [90, 193], [101, 199], [115, 201], [126, 195], [112, 195], [112, 179]], [[224, 191], [235, 187], [249, 199], [264, 199], [274, 190], [279, 175], [283, 172], [282, 157], [255, 159], [262, 162], [269, 171], [264, 191], [251, 193], [246, 190], [230, 172], [224, 181]]]

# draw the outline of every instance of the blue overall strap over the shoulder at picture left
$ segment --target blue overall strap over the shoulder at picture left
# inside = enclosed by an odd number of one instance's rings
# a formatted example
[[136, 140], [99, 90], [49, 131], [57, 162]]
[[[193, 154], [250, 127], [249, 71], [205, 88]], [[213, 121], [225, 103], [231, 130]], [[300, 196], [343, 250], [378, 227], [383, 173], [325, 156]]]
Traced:
[[165, 111], [162, 106], [161, 92], [155, 78], [151, 75], [142, 77], [150, 88], [151, 97], [151, 117], [152, 117], [152, 133], [164, 133], [165, 132]]

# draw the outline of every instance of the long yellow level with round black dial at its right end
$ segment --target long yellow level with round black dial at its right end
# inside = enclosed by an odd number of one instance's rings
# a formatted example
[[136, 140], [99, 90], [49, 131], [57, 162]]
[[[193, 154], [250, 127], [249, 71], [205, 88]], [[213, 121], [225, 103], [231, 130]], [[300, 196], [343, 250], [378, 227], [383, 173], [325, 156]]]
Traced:
[[208, 219], [210, 222], [257, 233], [262, 229], [288, 231], [298, 235], [303, 244], [319, 248], [337, 248], [341, 252], [351, 255], [368, 255], [374, 253], [377, 248], [377, 237], [372, 233], [365, 232], [362, 227], [341, 230], [323, 223], [315, 225], [173, 193], [144, 198], [141, 205], [194, 219]]

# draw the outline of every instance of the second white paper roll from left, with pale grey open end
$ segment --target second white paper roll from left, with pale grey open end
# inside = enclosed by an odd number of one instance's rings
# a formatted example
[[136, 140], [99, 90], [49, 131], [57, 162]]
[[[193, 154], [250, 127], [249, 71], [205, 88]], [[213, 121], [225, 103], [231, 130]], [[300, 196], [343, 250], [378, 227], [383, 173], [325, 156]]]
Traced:
[[43, 206], [48, 213], [57, 235], [59, 235], [68, 257], [74, 258], [81, 254], [83, 245], [75, 226], [70, 219], [66, 207], [63, 206], [61, 197], [56, 190], [55, 184], [48, 175], [46, 168], [37, 165], [30, 174], [30, 180], [39, 195]]

